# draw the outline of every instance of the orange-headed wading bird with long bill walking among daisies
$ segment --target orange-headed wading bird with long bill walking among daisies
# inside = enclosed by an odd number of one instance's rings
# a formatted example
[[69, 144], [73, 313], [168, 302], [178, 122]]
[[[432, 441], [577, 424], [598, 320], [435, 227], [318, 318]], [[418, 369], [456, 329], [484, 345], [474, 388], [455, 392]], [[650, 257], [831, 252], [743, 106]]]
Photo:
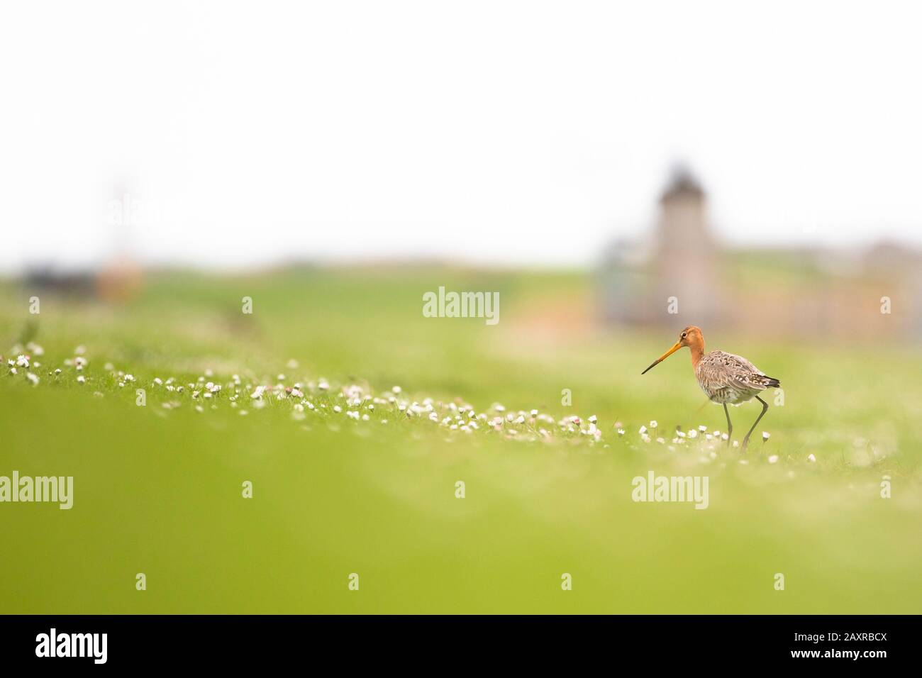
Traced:
[[730, 438], [733, 437], [733, 424], [730, 422], [727, 405], [740, 405], [752, 398], [762, 403], [762, 412], [752, 424], [749, 433], [743, 438], [743, 449], [746, 449], [749, 445], [749, 436], [768, 411], [768, 403], [759, 398], [759, 392], [766, 388], [779, 387], [781, 382], [774, 376], [766, 376], [758, 367], [739, 355], [724, 351], [705, 353], [701, 327], [693, 325], [683, 329], [679, 340], [673, 344], [672, 348], [659, 356], [641, 374], [645, 375], [683, 346], [691, 349], [691, 366], [698, 379], [698, 386], [712, 402], [719, 402], [724, 406], [724, 413], [727, 415], [727, 447], [730, 446]]

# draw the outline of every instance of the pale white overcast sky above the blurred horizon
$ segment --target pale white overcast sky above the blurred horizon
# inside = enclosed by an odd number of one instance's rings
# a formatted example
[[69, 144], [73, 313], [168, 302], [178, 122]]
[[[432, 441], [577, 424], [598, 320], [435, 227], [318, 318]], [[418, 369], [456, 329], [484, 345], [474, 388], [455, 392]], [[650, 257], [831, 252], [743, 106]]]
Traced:
[[[912, 3], [6, 2], [0, 269], [922, 243]], [[112, 225], [112, 199], [136, 208]], [[117, 233], [120, 233], [117, 235]]]

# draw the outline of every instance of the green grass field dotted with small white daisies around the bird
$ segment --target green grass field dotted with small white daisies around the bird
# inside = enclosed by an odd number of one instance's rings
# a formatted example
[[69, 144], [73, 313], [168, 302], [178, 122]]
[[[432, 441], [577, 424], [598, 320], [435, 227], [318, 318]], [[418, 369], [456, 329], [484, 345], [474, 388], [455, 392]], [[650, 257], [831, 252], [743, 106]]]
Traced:
[[[423, 317], [440, 285], [499, 291], [500, 323]], [[0, 504], [2, 613], [922, 613], [916, 346], [705, 327], [784, 387], [744, 454], [673, 442], [726, 429], [688, 351], [640, 374], [686, 323], [602, 329], [579, 273], [160, 273], [39, 315], [32, 293], [0, 285], [0, 475], [73, 476], [74, 506]], [[708, 476], [708, 508], [633, 502], [649, 470]]]

